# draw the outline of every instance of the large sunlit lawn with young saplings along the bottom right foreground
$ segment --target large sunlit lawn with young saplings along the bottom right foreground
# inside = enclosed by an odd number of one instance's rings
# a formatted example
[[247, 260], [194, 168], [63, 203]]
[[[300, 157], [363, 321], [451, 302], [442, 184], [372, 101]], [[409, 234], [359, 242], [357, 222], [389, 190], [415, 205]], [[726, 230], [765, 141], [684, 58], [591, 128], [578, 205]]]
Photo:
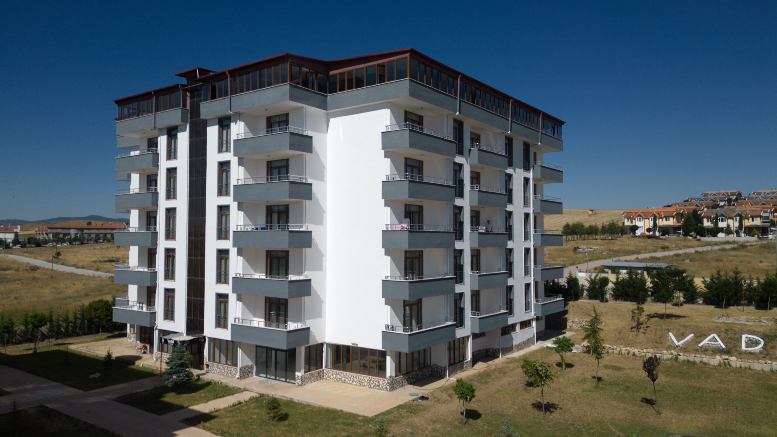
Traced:
[[[549, 349], [528, 358], [560, 362]], [[665, 361], [660, 365], [657, 392], [661, 414], [650, 405], [653, 388], [642, 370], [642, 359], [605, 355], [594, 388], [596, 361], [590, 355], [569, 354], [572, 366], [558, 369], [559, 379], [545, 389], [552, 412], [542, 419], [538, 389], [523, 385], [521, 359], [492, 362], [489, 369], [466, 379], [476, 387], [472, 415], [458, 424], [458, 401], [451, 386], [430, 393], [423, 403], [408, 402], [383, 416], [392, 435], [501, 435], [509, 419], [521, 435], [594, 437], [666, 437], [667, 435], [772, 436], [777, 427], [777, 375], [747, 369]], [[201, 414], [186, 421], [228, 437], [262, 435], [372, 435], [375, 419], [281, 400], [288, 418], [267, 421], [262, 400]]]

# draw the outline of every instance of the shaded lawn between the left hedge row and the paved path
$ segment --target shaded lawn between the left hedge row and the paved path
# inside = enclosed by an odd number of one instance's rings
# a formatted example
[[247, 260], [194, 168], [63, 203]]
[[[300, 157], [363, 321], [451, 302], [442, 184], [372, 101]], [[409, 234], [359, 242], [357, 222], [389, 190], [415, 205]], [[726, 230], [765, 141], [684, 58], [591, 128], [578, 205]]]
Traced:
[[[108, 370], [103, 366], [102, 358], [65, 351], [67, 344], [70, 343], [39, 344], [37, 354], [33, 354], [32, 347], [9, 348], [7, 353], [0, 353], [0, 364], [85, 391], [154, 375], [154, 369], [120, 361], [114, 361], [112, 369]], [[89, 377], [95, 373], [100, 374], [99, 378]]]

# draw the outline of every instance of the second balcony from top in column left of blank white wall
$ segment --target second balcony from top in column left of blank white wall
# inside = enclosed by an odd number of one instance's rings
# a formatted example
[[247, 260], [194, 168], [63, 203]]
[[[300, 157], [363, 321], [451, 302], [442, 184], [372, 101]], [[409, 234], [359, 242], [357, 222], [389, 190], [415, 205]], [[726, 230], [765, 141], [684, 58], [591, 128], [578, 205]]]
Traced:
[[239, 179], [232, 198], [238, 202], [312, 201], [313, 184], [304, 176], [268, 176]]

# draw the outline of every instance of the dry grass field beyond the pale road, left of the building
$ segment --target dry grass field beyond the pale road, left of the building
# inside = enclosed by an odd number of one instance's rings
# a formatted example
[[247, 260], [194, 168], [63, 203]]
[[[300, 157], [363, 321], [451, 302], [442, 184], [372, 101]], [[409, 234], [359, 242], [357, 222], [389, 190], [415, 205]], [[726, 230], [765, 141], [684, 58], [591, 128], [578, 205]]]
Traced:
[[[126, 263], [130, 257], [128, 247], [113, 246], [113, 243], [76, 244], [73, 246], [58, 246], [61, 256], [54, 264], [84, 268], [86, 270], [113, 273], [115, 264]], [[10, 254], [20, 257], [51, 261], [51, 247], [28, 247], [26, 249], [9, 250]]]

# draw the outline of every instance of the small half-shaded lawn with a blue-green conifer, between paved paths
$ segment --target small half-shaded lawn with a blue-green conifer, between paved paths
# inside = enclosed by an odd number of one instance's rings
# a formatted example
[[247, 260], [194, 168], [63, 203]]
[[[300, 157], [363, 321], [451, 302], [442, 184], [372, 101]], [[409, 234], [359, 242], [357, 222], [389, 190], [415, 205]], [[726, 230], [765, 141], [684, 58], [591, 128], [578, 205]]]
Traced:
[[176, 393], [166, 386], [159, 386], [149, 390], [125, 394], [117, 397], [117, 402], [131, 407], [140, 408], [153, 414], [167, 414], [171, 411], [181, 410], [192, 405], [204, 404], [210, 400], [218, 399], [242, 390], [225, 386], [210, 381], [197, 381], [184, 387]]

